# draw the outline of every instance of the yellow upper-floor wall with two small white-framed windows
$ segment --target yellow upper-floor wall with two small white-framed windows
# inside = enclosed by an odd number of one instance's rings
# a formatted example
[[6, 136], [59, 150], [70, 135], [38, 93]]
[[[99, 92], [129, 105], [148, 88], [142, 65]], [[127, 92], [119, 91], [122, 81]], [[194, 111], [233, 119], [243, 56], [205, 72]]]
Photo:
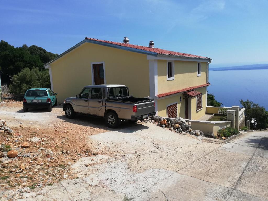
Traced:
[[174, 61], [174, 80], [167, 80], [167, 60], [158, 60], [158, 94], [206, 84], [207, 62], [199, 62], [201, 76], [197, 76], [197, 63]]

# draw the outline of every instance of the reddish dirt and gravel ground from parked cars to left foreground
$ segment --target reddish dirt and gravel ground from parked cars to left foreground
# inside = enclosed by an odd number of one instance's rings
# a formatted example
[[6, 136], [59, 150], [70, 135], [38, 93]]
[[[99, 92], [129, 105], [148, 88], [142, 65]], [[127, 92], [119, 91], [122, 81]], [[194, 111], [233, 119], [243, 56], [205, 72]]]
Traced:
[[[107, 128], [102, 118], [77, 115], [70, 120], [65, 117], [62, 106], [54, 107], [52, 112], [29, 109], [24, 113], [22, 109], [22, 102], [18, 101], [0, 104], [0, 120], [5, 120], [14, 131], [13, 136], [1, 133], [2, 151], [17, 150], [19, 153], [13, 159], [2, 157], [1, 187], [5, 189], [35, 188], [67, 177], [76, 178], [69, 167], [81, 157], [98, 154], [92, 153], [88, 136], [114, 130]], [[121, 128], [128, 126], [131, 125], [120, 125]], [[33, 137], [39, 141], [28, 140]], [[24, 142], [29, 142], [30, 146], [20, 147]], [[111, 155], [109, 152], [102, 154]]]

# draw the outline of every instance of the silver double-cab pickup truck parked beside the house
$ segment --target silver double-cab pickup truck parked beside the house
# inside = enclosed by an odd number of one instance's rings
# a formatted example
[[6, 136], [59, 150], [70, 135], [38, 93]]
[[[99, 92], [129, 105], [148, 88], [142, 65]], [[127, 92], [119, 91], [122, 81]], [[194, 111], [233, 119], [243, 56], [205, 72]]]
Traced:
[[155, 115], [155, 102], [130, 96], [125, 85], [97, 84], [85, 86], [80, 94], [66, 98], [62, 110], [67, 118], [74, 118], [75, 113], [101, 116], [108, 127], [116, 128], [120, 120], [135, 123]]

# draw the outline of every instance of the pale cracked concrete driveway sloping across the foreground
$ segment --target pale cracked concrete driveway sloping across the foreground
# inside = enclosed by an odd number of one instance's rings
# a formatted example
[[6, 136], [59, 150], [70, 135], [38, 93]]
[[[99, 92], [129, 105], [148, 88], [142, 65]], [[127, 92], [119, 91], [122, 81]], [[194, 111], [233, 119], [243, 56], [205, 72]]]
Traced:
[[89, 138], [98, 155], [72, 166], [77, 179], [5, 193], [21, 201], [268, 200], [268, 132], [215, 144], [146, 123]]

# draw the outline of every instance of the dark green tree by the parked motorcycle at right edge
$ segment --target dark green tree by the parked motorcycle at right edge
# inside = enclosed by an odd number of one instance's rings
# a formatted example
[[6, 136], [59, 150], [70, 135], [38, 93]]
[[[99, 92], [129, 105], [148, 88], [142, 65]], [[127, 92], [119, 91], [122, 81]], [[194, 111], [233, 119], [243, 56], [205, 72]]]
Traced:
[[258, 128], [267, 128], [268, 127], [268, 111], [264, 107], [259, 106], [258, 103], [253, 103], [252, 101], [240, 101], [242, 107], [245, 108], [245, 115], [247, 119], [257, 118], [257, 127]]

